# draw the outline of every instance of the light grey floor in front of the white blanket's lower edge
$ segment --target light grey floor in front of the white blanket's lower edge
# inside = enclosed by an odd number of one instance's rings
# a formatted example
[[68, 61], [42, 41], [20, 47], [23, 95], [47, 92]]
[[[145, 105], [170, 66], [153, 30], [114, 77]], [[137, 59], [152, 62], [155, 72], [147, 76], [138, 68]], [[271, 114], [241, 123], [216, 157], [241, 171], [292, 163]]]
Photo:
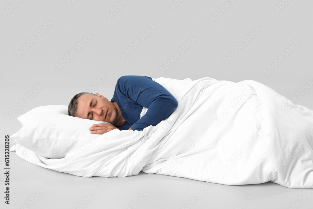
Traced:
[[[313, 206], [313, 189], [290, 189], [272, 182], [222, 185], [143, 172], [126, 177], [80, 177], [33, 165], [15, 152], [10, 152], [10, 162], [9, 208], [309, 209]], [[3, 188], [4, 175], [0, 176]]]

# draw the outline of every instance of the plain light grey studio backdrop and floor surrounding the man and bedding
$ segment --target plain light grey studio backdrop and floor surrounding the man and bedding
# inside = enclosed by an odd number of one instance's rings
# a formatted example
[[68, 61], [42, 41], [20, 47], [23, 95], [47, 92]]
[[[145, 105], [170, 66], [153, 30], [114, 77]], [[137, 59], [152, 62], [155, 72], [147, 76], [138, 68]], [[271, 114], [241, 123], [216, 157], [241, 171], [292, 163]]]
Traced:
[[[313, 77], [312, 1], [184, 0], [172, 8], [175, 0], [126, 0], [110, 19], [107, 13], [121, 3], [120, 0], [76, 0], [70, 5], [68, 2], [3, 0], [0, 3], [2, 159], [4, 135], [12, 135], [22, 127], [18, 116], [42, 105], [68, 105], [81, 91], [99, 93], [111, 99], [117, 79], [124, 75], [192, 80], [212, 77], [233, 82], [255, 80], [290, 100], [296, 97], [295, 104], [313, 109], [313, 89], [309, 88], [301, 97], [297, 94]], [[212, 21], [211, 16], [226, 3], [229, 4], [226, 11]], [[275, 7], [280, 3], [285, 5], [277, 12]], [[8, 7], [12, 5], [12, 11], [4, 14], [3, 11], [9, 11]], [[52, 24], [38, 37], [35, 32], [41, 30], [46, 21]], [[144, 40], [140, 39], [139, 35], [148, 30], [150, 24], [156, 28]], [[259, 32], [245, 43], [243, 38], [252, 33], [254, 27], [258, 27]], [[82, 41], [85, 34], [92, 37], [80, 50], [75, 49], [75, 44]], [[36, 41], [18, 56], [17, 51], [32, 37]], [[190, 37], [194, 37], [195, 42], [181, 54], [179, 48]], [[121, 54], [136, 40], [140, 44], [122, 60]], [[295, 40], [300, 44], [286, 57], [283, 51]], [[240, 43], [244, 47], [226, 63], [224, 57]], [[56, 64], [71, 50], [76, 54], [58, 70]], [[179, 58], [162, 72], [160, 67], [175, 53]], [[280, 56], [283, 61], [266, 76], [264, 70]], [[105, 79], [101, 80], [100, 75]], [[96, 87], [91, 87], [92, 84]], [[35, 85], [41, 88], [28, 100], [25, 95], [31, 93]], [[7, 119], [6, 115], [21, 102], [24, 105]], [[20, 159], [14, 152], [10, 154], [11, 205], [0, 203], [6, 208], [24, 205], [29, 208], [77, 208], [77, 203], [92, 195], [90, 191], [102, 180], [101, 177], [84, 178], [44, 169]], [[0, 177], [3, 194], [4, 175], [0, 174]], [[83, 208], [134, 208], [131, 202], [144, 191], [150, 195], [137, 208], [181, 208], [205, 186], [201, 181], [142, 172], [137, 176], [109, 180]], [[300, 199], [302, 193], [311, 194], [310, 190], [289, 189], [271, 182], [212, 185], [192, 208], [233, 208], [249, 194], [253, 198], [245, 208], [289, 208], [296, 201], [300, 202], [298, 208], [311, 208], [313, 204], [313, 195], [305, 201]], [[45, 192], [30, 205], [27, 200], [38, 188]]]

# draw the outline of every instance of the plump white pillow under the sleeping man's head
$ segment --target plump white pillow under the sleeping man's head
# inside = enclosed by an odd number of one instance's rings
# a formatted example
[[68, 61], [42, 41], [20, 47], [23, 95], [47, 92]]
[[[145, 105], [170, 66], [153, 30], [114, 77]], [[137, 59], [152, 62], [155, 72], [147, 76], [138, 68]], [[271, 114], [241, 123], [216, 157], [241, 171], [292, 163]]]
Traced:
[[17, 118], [23, 127], [11, 138], [38, 155], [59, 159], [101, 135], [89, 128], [107, 122], [72, 117], [67, 109], [67, 105], [33, 108]]

